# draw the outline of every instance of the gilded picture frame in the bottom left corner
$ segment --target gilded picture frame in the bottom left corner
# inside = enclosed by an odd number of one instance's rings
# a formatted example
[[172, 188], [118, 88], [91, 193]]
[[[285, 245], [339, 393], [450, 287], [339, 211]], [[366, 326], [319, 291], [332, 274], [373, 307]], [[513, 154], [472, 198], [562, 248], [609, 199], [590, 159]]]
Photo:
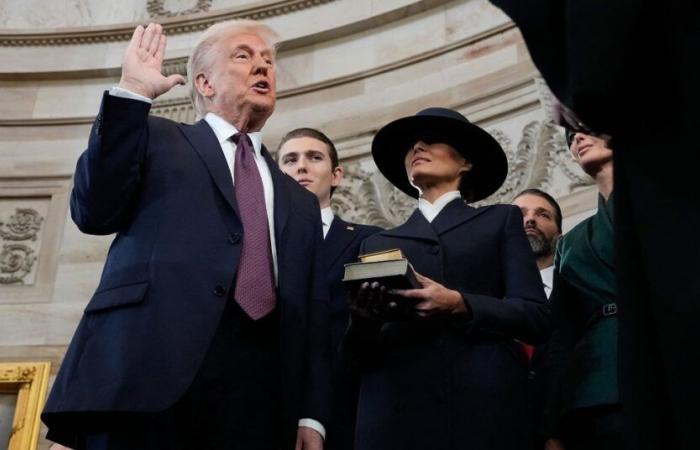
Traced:
[[0, 394], [16, 394], [8, 450], [36, 450], [51, 363], [0, 362]]

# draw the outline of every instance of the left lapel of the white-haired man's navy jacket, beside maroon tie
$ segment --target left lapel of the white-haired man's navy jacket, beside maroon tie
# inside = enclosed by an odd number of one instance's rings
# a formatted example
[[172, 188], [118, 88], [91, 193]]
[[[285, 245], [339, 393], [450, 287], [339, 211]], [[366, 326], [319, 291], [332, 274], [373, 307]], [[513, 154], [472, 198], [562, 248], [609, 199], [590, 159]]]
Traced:
[[231, 172], [214, 131], [204, 120], [200, 120], [193, 126], [180, 127], [180, 129], [192, 148], [204, 161], [204, 165], [214, 179], [214, 184], [216, 184], [226, 202], [238, 214]]

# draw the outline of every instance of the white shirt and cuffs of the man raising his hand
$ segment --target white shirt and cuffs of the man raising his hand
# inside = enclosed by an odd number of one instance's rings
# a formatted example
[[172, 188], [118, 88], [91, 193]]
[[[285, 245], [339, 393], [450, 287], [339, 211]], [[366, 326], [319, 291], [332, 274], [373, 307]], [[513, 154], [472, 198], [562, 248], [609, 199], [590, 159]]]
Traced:
[[[144, 97], [143, 95], [137, 94], [135, 92], [131, 92], [127, 89], [122, 89], [118, 86], [114, 86], [109, 90], [110, 95], [114, 95], [116, 97], [122, 97], [122, 98], [129, 98], [132, 100], [139, 100], [139, 101], [144, 101], [147, 103], [153, 103], [153, 101], [148, 98]], [[232, 124], [226, 122], [224, 119], [221, 117], [217, 116], [214, 113], [207, 113], [206, 116], [204, 116], [204, 120], [209, 124], [209, 126], [212, 128], [214, 131], [214, 134], [216, 135], [217, 140], [219, 141], [219, 144], [221, 145], [221, 150], [224, 152], [224, 158], [226, 158], [226, 164], [228, 164], [229, 171], [231, 172], [231, 179], [233, 180], [234, 186], [236, 184], [236, 179], [234, 176], [234, 164], [235, 164], [235, 152], [236, 152], [236, 144], [234, 144], [230, 138], [234, 134], [238, 133], [238, 130], [236, 127], [234, 127]], [[274, 274], [275, 274], [275, 285], [277, 284], [277, 246], [275, 242], [275, 211], [274, 211], [274, 205], [275, 205], [275, 190], [274, 186], [272, 184], [272, 175], [270, 173], [270, 168], [267, 166], [267, 162], [265, 161], [265, 158], [262, 156], [261, 149], [262, 149], [262, 138], [260, 135], [260, 132], [254, 132], [254, 133], [248, 133], [248, 137], [250, 138], [251, 142], [253, 143], [253, 148], [255, 149], [255, 164], [258, 166], [258, 171], [260, 172], [260, 178], [262, 179], [263, 183], [263, 191], [265, 194], [265, 208], [267, 210], [267, 223], [269, 226], [270, 230], [270, 245], [272, 249], [272, 266], [274, 269]], [[330, 208], [328, 208], [330, 209]], [[331, 213], [332, 214], [332, 213]], [[331, 218], [332, 219], [332, 218]], [[330, 222], [328, 223], [328, 226], [330, 227]], [[325, 226], [324, 226], [324, 237], [325, 237]], [[312, 428], [325, 439], [326, 438], [326, 429], [325, 427], [317, 420], [314, 419], [300, 419], [299, 424], [300, 427], [308, 427]]]

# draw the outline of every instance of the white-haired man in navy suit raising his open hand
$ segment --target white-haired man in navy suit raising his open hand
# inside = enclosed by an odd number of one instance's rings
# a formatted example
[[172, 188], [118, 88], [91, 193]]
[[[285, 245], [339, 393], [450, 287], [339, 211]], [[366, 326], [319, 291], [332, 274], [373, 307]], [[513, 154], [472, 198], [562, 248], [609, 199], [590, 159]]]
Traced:
[[[138, 27], [78, 161], [71, 213], [116, 233], [46, 404], [76, 449], [320, 449], [330, 395], [318, 201], [260, 142], [277, 35], [208, 29], [188, 62], [203, 120], [148, 112], [162, 28]], [[296, 439], [296, 441], [295, 441]]]

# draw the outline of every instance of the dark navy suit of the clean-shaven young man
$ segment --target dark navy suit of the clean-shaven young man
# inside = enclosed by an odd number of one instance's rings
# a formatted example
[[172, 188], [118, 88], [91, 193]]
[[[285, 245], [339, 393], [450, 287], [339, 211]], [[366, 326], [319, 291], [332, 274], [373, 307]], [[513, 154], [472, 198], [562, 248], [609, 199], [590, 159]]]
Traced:
[[356, 262], [362, 241], [380, 230], [375, 226], [348, 223], [335, 216], [323, 240], [323, 257], [328, 267], [326, 281], [331, 298], [331, 349], [336, 352], [333, 358], [333, 417], [326, 441], [328, 450], [354, 448], [359, 380], [356, 373], [347, 370], [337, 354], [350, 317], [343, 286], [345, 264]]

